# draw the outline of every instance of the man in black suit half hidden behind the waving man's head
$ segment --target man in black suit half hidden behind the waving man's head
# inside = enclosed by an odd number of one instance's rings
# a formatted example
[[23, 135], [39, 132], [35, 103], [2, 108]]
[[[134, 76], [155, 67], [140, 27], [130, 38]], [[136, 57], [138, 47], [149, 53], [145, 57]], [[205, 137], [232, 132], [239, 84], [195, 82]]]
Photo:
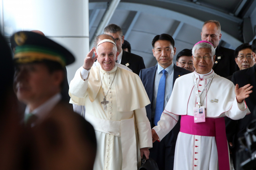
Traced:
[[124, 43], [124, 36], [120, 26], [116, 24], [109, 24], [104, 28], [104, 34], [108, 34], [114, 37], [116, 40], [116, 47], [119, 53], [116, 61], [117, 63], [120, 63], [130, 68], [137, 75], [139, 75], [141, 69], [146, 68], [142, 57], [133, 53], [129, 53], [122, 49], [122, 44]]

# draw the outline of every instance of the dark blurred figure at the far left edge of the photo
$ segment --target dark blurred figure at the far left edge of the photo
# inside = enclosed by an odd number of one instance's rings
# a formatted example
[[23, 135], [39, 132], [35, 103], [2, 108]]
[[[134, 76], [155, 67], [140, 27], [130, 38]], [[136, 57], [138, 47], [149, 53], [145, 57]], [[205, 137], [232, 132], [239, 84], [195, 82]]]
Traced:
[[22, 138], [24, 129], [20, 125], [18, 101], [12, 84], [14, 65], [12, 51], [0, 35], [0, 169], [22, 169]]

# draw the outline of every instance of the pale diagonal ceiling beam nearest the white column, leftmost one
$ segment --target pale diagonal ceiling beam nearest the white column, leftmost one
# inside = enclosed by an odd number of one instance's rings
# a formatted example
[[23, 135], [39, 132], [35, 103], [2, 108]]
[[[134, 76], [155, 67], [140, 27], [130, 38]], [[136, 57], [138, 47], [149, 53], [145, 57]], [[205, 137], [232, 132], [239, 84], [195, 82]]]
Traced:
[[112, 0], [108, 6], [108, 8], [106, 9], [105, 14], [102, 17], [102, 20], [100, 22], [100, 24], [98, 25], [98, 28], [96, 29], [94, 36], [90, 42], [90, 49], [93, 47], [93, 41], [94, 38], [100, 34], [103, 33], [104, 28], [108, 25], [110, 19], [112, 18], [116, 7], [118, 6], [120, 0]]

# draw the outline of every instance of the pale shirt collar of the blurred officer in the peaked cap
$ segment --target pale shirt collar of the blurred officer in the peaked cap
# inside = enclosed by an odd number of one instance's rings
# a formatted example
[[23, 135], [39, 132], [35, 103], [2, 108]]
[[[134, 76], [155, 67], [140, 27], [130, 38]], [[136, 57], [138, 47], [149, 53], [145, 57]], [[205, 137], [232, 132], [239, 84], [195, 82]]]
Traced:
[[[61, 94], [57, 93], [52, 96], [48, 101], [44, 102], [42, 105], [34, 109], [31, 113], [38, 116], [40, 120], [44, 119], [44, 117], [53, 109], [53, 107], [60, 101]], [[27, 106], [25, 110], [25, 115], [30, 113], [30, 108]]]

